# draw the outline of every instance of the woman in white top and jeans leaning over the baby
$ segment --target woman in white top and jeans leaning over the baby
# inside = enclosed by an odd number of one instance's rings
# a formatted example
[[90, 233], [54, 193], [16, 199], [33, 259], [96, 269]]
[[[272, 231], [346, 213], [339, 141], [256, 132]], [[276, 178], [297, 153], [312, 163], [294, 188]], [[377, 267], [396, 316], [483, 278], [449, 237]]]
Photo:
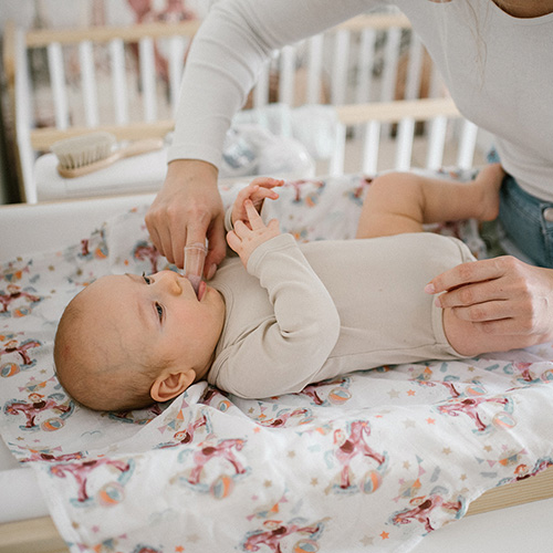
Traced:
[[[553, 0], [228, 0], [197, 34], [185, 69], [166, 181], [146, 216], [182, 267], [209, 238], [206, 276], [225, 257], [217, 166], [225, 133], [267, 55], [371, 8], [395, 4], [438, 65], [460, 112], [495, 137], [508, 177], [500, 219], [535, 264], [512, 257], [447, 271], [430, 293], [482, 332], [553, 340]], [[551, 220], [550, 220], [551, 219]]]

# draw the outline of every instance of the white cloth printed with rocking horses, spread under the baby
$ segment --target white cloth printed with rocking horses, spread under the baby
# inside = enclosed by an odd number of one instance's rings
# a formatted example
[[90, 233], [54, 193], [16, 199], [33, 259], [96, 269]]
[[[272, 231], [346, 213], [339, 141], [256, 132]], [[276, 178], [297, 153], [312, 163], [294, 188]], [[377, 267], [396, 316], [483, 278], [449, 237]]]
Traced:
[[[290, 182], [268, 216], [298, 240], [352, 238], [366, 186]], [[0, 319], [0, 431], [75, 552], [410, 551], [483, 491], [552, 462], [552, 344], [380, 367], [264, 400], [199, 383], [144, 411], [82, 409], [52, 371], [63, 305], [100, 274], [166, 261], [143, 208], [74, 243], [2, 267], [1, 293], [15, 301]]]

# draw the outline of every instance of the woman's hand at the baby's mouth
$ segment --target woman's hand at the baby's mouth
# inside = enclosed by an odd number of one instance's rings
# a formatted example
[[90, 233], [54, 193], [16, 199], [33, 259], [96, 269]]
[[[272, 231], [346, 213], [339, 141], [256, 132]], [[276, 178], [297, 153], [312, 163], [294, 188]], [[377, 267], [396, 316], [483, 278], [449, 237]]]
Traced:
[[205, 243], [207, 237], [205, 275], [213, 276], [227, 250], [215, 166], [197, 159], [171, 161], [164, 186], [145, 219], [157, 250], [179, 268], [184, 265], [185, 246]]

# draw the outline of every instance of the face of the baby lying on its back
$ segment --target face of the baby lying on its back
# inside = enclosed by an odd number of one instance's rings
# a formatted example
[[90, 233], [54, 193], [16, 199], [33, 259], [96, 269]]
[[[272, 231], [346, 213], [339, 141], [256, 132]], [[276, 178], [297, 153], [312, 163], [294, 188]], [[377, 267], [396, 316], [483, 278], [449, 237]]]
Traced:
[[83, 300], [98, 347], [114, 355], [122, 347], [147, 352], [170, 366], [209, 363], [225, 321], [217, 290], [201, 283], [197, 296], [190, 282], [174, 271], [103, 276], [84, 291]]

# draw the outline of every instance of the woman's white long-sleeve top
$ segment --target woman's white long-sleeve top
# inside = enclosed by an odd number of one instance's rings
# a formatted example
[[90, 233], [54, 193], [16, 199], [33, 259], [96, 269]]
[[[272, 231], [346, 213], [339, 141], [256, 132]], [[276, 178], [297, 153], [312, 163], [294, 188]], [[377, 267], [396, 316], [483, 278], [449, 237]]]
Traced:
[[491, 0], [227, 0], [196, 35], [169, 160], [219, 166], [225, 134], [274, 49], [378, 4], [409, 18], [458, 108], [495, 136], [501, 161], [553, 201], [553, 13], [513, 18]]

